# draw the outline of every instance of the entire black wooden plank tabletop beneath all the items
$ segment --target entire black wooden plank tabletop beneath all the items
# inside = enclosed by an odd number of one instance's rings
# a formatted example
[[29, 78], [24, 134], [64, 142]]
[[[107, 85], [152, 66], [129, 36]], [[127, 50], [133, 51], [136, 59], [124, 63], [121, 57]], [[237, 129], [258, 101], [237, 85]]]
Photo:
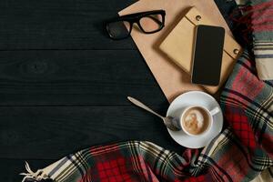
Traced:
[[[126, 100], [161, 114], [168, 106], [132, 39], [106, 36], [104, 21], [134, 2], [0, 1], [1, 182], [21, 181], [25, 160], [35, 170], [117, 141], [183, 152], [160, 119]], [[224, 13], [228, 2], [217, 1]]]

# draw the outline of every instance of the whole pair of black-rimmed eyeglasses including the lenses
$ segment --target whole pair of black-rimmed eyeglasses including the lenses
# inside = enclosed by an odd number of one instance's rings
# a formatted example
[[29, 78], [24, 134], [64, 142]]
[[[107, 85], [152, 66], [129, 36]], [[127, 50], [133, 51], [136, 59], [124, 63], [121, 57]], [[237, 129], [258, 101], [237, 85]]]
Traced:
[[[106, 23], [106, 30], [112, 39], [124, 39], [128, 37], [135, 23], [138, 30], [145, 34], [154, 34], [160, 31], [165, 24], [165, 11], [156, 10], [140, 12], [130, 15], [122, 15]], [[136, 27], [137, 27], [136, 26]]]

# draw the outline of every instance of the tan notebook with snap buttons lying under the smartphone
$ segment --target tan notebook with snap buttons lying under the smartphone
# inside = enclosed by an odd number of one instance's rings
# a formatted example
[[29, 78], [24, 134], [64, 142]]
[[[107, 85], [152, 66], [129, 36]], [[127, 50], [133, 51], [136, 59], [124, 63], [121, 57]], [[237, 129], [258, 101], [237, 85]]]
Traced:
[[[183, 69], [188, 75], [191, 74], [192, 56], [197, 25], [219, 25], [214, 23], [206, 15], [197, 11], [196, 7], [189, 9], [187, 14], [179, 21], [176, 27], [167, 35], [159, 48]], [[213, 35], [211, 35], [213, 38]], [[207, 45], [209, 46], [209, 45]], [[231, 35], [225, 35], [224, 50], [222, 57], [221, 75], [218, 86], [204, 86], [211, 94], [217, 92], [218, 88], [227, 80], [233, 66], [240, 55], [241, 47]], [[204, 60], [206, 61], [206, 60]], [[214, 67], [204, 67], [214, 69]]]

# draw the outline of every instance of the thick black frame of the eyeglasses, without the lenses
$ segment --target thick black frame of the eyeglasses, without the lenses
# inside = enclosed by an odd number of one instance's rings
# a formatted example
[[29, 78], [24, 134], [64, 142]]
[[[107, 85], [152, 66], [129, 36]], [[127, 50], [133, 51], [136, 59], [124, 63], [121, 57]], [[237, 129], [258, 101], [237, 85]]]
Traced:
[[[148, 15], [161, 15], [162, 16], [162, 21], [157, 20], [157, 18], [155, 18], [155, 19], [153, 18], [154, 21], [156, 21], [157, 24], [159, 25], [159, 27], [158, 27], [157, 30], [147, 32], [141, 26], [140, 19], [143, 18], [143, 17], [147, 17]], [[147, 11], [147, 12], [139, 12], [139, 13], [136, 13], [136, 14], [122, 15], [122, 16], [119, 16], [119, 17], [116, 17], [116, 18], [114, 18], [112, 20], [107, 21], [106, 22], [106, 30], [107, 30], [108, 35], [112, 39], [115, 39], [115, 40], [125, 39], [129, 35], [131, 35], [132, 29], [133, 29], [133, 25], [136, 23], [136, 25], [138, 25], [138, 27], [140, 28], [140, 30], [143, 33], [145, 33], [145, 34], [154, 34], [156, 32], [159, 32], [160, 30], [162, 30], [162, 28], [165, 26], [165, 15], [166, 15], [166, 12], [165, 12], [165, 10], [162, 10], [162, 9], [160, 9], [160, 10], [154, 10], [154, 11]], [[121, 22], [121, 21], [125, 21], [125, 22], [128, 22], [130, 24], [130, 28], [128, 30], [128, 34], [126, 36], [122, 37], [122, 38], [115, 38], [115, 37], [113, 37], [113, 36], [110, 35], [110, 33], [109, 33], [109, 26], [108, 25], [110, 23]]]

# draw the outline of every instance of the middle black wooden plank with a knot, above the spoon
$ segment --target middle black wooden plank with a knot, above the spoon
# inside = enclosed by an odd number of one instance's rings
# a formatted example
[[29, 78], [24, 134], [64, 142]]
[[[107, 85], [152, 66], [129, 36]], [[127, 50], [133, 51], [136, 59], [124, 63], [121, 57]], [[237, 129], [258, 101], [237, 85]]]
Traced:
[[0, 106], [167, 103], [134, 50], [2, 51]]

